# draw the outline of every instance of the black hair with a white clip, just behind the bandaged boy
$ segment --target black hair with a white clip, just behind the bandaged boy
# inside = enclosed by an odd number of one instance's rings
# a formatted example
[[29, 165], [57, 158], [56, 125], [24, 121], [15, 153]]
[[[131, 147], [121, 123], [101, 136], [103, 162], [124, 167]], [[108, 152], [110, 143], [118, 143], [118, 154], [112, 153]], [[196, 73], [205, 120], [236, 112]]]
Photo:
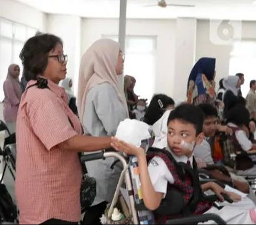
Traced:
[[144, 122], [153, 125], [163, 116], [168, 105], [175, 105], [171, 97], [164, 94], [154, 95], [146, 111]]

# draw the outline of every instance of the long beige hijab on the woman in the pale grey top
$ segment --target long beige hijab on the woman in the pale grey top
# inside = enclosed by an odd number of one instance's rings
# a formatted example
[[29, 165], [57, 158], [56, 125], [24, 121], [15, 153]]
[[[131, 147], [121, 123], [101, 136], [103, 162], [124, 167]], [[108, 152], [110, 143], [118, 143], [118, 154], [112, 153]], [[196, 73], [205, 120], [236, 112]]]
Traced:
[[86, 96], [89, 90], [104, 82], [108, 82], [116, 91], [116, 94], [129, 116], [124, 91], [118, 85], [116, 63], [119, 54], [119, 44], [110, 39], [95, 41], [82, 56], [79, 80], [77, 106], [80, 118], [83, 118]]

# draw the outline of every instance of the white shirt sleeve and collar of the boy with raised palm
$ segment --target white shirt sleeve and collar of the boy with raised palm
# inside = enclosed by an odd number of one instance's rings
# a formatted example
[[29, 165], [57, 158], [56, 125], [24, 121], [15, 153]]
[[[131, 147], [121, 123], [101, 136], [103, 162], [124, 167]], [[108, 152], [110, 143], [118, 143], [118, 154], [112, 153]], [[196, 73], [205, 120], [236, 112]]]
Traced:
[[[171, 151], [169, 151], [171, 152]], [[187, 163], [187, 156], [176, 156], [171, 152], [172, 156], [177, 162]], [[191, 166], [193, 166], [193, 155], [189, 158]], [[167, 185], [168, 182], [170, 184], [174, 184], [174, 178], [172, 173], [167, 168], [164, 160], [159, 156], [153, 157], [153, 159], [149, 162], [148, 172], [151, 183], [156, 192], [163, 193], [164, 196], [167, 193]]]

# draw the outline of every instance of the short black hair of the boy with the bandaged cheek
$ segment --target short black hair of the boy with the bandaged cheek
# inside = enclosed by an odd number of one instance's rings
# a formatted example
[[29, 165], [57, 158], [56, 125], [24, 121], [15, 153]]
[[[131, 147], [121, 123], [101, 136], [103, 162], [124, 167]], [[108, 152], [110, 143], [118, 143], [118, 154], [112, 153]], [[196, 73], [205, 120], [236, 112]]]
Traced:
[[168, 118], [167, 126], [173, 120], [191, 123], [196, 129], [196, 135], [203, 131], [204, 114], [198, 106], [183, 104], [174, 109]]

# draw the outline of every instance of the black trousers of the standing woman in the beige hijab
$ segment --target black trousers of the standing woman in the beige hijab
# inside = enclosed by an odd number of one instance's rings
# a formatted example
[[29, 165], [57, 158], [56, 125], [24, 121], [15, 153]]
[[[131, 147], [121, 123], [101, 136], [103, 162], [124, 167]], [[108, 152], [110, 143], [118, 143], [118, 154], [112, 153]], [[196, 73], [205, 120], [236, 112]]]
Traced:
[[102, 202], [98, 205], [89, 207], [89, 209], [85, 211], [82, 224], [101, 224], [100, 218], [102, 214], [104, 214], [107, 204], [107, 202]]

